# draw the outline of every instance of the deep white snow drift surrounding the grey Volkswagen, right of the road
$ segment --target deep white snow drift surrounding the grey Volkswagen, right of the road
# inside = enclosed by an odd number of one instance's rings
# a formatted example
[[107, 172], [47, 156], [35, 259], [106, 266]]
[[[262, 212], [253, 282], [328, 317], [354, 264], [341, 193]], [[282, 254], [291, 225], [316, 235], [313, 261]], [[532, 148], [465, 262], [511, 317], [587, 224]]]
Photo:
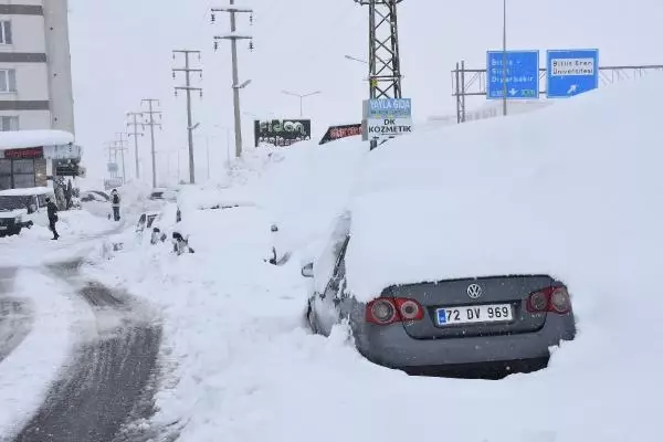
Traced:
[[[162, 307], [157, 419], [179, 420], [181, 440], [197, 442], [429, 432], [459, 442], [660, 439], [661, 81], [414, 135], [368, 155], [355, 140], [254, 154], [228, 182], [185, 192], [177, 229], [191, 235], [194, 254], [176, 256], [169, 243], [143, 238], [87, 269]], [[245, 203], [199, 210], [201, 200]], [[346, 201], [357, 209], [354, 234], [365, 239], [348, 256], [360, 295], [389, 281], [546, 266], [572, 291], [577, 340], [556, 349], [546, 370], [475, 381], [373, 366], [343, 327], [329, 339], [311, 335], [299, 265]], [[295, 251], [284, 266], [263, 261], [275, 219]], [[419, 265], [399, 265], [403, 251]]]

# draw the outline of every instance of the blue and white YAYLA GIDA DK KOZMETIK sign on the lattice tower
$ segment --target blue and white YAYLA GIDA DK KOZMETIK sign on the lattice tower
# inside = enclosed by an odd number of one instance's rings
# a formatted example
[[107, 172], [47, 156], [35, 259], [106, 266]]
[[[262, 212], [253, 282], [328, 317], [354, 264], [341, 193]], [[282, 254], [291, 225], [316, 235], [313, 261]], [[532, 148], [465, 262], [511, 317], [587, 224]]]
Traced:
[[364, 104], [365, 141], [382, 141], [412, 133], [412, 101], [410, 98], [369, 99]]

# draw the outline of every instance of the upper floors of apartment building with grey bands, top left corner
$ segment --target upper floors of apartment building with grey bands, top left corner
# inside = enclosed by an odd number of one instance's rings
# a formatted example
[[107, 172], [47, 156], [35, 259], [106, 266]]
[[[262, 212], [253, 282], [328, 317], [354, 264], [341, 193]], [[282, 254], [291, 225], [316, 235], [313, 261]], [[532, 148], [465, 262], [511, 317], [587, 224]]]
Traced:
[[67, 0], [0, 0], [0, 130], [35, 129], [74, 134]]

